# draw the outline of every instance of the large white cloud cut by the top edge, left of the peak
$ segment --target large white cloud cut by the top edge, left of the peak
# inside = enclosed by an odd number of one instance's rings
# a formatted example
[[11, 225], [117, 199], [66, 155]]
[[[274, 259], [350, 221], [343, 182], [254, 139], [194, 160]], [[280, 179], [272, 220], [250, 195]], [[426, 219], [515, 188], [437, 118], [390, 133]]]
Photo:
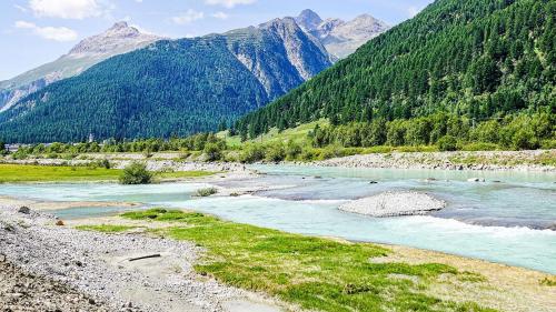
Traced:
[[29, 8], [37, 17], [82, 20], [99, 17], [110, 10], [103, 0], [30, 0]]

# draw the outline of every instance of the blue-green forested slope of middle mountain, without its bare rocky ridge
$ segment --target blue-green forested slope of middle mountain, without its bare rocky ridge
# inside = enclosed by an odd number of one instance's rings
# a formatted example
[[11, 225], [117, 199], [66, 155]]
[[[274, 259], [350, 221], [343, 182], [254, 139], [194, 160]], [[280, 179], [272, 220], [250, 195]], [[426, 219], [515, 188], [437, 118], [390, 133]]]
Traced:
[[185, 135], [266, 101], [224, 38], [158, 41], [31, 94], [0, 114], [0, 135], [19, 142]]

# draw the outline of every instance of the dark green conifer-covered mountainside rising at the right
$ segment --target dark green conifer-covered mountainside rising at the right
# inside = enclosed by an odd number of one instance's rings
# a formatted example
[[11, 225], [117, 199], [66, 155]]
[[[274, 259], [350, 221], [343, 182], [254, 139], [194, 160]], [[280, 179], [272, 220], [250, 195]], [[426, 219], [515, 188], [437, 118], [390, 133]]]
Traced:
[[555, 17], [548, 0], [437, 0], [237, 128], [256, 137], [321, 118], [554, 115]]

